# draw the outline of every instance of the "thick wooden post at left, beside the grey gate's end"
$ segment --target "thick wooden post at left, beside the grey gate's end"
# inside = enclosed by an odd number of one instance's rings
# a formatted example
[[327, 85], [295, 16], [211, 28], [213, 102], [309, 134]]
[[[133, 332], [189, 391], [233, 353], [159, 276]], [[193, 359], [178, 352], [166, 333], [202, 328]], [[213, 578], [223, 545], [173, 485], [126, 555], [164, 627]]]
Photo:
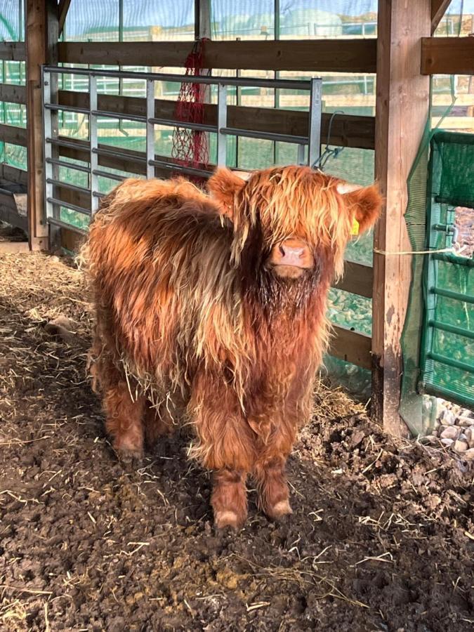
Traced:
[[32, 250], [48, 247], [44, 209], [43, 106], [41, 64], [58, 61], [58, 4], [55, 0], [27, 0], [27, 133], [28, 222]]

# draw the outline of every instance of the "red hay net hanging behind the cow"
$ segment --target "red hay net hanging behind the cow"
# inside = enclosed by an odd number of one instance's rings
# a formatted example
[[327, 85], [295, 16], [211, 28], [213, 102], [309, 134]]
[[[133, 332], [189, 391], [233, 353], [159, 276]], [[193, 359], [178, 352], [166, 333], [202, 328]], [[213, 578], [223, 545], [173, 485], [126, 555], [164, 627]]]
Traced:
[[[187, 75], [197, 76], [203, 70], [203, 40], [195, 42], [192, 52], [187, 55], [185, 67]], [[204, 123], [204, 96], [206, 85], [182, 83], [176, 103], [175, 116], [178, 121]], [[180, 165], [205, 169], [209, 165], [209, 147], [206, 132], [176, 127], [173, 131], [171, 157]], [[202, 185], [206, 178], [188, 176], [192, 182]]]

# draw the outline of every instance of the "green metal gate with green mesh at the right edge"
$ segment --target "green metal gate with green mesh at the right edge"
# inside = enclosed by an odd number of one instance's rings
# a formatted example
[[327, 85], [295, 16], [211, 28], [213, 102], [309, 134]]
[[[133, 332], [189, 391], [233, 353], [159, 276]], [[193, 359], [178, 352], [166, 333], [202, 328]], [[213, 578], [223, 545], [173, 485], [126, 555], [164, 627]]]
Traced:
[[474, 135], [439, 131], [431, 140], [426, 304], [421, 390], [474, 405]]

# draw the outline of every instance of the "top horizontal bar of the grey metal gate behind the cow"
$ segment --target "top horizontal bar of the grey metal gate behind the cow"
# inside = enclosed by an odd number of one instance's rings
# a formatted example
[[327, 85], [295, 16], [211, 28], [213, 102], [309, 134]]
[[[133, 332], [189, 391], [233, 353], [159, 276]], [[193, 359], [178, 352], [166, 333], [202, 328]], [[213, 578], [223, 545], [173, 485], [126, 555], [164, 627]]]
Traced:
[[[211, 77], [209, 75], [177, 75], [160, 72], [124, 72], [120, 70], [100, 70], [86, 68], [45, 66], [46, 72], [54, 74], [81, 74], [89, 77], [115, 77], [124, 79], [152, 79], [153, 81], [175, 81], [176, 83], [187, 84], [209, 84], [216, 85], [222, 81], [222, 77]], [[305, 90], [310, 91], [310, 81], [296, 81], [294, 79], [251, 79], [248, 77], [226, 77], [226, 86], [240, 86], [241, 88], [281, 88], [282, 90]]]

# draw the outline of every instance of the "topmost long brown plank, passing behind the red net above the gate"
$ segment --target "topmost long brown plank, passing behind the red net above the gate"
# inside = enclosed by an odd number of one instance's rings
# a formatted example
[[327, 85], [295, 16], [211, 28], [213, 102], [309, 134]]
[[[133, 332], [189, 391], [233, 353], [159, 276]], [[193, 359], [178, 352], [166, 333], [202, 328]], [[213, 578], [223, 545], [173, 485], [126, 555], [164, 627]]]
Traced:
[[[59, 42], [59, 61], [183, 67], [192, 41]], [[230, 70], [376, 72], [376, 39], [208, 41], [204, 67]]]

